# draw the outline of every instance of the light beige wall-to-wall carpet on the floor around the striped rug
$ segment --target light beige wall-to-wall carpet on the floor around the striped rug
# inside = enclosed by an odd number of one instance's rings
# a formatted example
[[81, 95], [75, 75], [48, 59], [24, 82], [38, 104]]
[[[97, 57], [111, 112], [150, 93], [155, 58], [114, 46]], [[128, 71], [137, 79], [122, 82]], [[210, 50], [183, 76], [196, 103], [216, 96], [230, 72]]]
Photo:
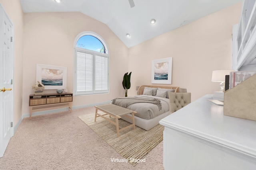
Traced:
[[94, 107], [24, 118], [11, 138], [0, 170], [164, 170], [163, 141], [136, 166], [124, 162], [79, 115]]

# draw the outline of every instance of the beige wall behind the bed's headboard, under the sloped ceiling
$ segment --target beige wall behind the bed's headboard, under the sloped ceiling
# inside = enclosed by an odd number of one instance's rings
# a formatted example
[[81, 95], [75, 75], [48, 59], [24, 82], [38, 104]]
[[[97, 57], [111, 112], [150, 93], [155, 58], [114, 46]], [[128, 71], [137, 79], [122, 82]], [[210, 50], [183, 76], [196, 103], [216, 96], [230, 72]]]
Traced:
[[[172, 57], [172, 86], [187, 88], [192, 101], [219, 91], [213, 70], [231, 68], [232, 26], [241, 3], [129, 48], [130, 96], [136, 86], [151, 84], [152, 60]], [[170, 85], [169, 85], [170, 86]]]

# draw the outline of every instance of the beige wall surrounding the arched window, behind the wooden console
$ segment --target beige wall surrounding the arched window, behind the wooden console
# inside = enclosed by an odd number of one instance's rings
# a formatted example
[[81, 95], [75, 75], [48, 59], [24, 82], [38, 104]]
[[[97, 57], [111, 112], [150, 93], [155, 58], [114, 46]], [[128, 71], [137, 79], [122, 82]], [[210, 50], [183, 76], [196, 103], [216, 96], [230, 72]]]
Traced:
[[74, 40], [83, 31], [97, 33], [108, 45], [110, 92], [75, 96], [73, 106], [124, 96], [122, 79], [128, 68], [128, 48], [107, 25], [80, 12], [24, 13], [23, 114], [29, 113], [28, 96], [34, 92], [36, 64], [67, 67], [67, 88], [73, 92]]

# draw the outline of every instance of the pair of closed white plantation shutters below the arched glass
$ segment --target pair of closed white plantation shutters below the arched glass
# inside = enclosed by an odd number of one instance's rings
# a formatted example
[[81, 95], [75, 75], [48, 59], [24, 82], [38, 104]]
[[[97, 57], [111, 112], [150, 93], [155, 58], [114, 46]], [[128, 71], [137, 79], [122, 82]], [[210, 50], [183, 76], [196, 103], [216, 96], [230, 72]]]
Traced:
[[76, 49], [75, 95], [108, 92], [108, 55]]

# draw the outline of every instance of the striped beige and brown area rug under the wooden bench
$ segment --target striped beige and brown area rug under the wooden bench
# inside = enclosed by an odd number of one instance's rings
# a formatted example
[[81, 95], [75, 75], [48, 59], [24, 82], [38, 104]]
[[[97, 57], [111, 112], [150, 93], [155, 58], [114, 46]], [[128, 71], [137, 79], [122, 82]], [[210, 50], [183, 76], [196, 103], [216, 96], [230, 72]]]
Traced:
[[[98, 113], [100, 112], [98, 111]], [[121, 131], [120, 137], [117, 137], [115, 125], [102, 117], [97, 117], [94, 122], [94, 115], [95, 113], [90, 113], [78, 117], [133, 166], [138, 161], [143, 161], [146, 154], [163, 140], [164, 127], [160, 124], [149, 131], [137, 126], [135, 129], [131, 127]], [[115, 121], [114, 118], [110, 119]], [[127, 125], [130, 123], [119, 119], [119, 129]]]

